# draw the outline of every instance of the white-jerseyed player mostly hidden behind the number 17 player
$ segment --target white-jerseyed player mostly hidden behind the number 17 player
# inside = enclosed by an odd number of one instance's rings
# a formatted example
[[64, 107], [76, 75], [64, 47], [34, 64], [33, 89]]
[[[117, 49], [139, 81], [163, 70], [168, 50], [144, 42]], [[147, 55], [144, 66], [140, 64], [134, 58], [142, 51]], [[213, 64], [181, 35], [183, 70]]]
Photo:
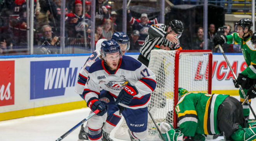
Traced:
[[[115, 32], [112, 35], [112, 39], [114, 39], [115, 41], [118, 42], [118, 44], [121, 47], [122, 50], [122, 54], [125, 54], [125, 51], [127, 49], [130, 48], [130, 39], [128, 37], [128, 35], [125, 32]], [[90, 68], [90, 66], [96, 62], [97, 60], [99, 60], [99, 56], [100, 56], [100, 47], [101, 47], [101, 43], [103, 41], [107, 41], [107, 39], [100, 39], [97, 44], [96, 44], [96, 50], [90, 55], [90, 57], [87, 59], [85, 65], [83, 66], [83, 68], [80, 70], [79, 76], [78, 76], [78, 83], [76, 84], [75, 87], [75, 91], [76, 93], [80, 94], [80, 96], [83, 93], [84, 87], [85, 87], [85, 83], [87, 82], [87, 78], [88, 78], [88, 70]], [[109, 138], [109, 133], [112, 131], [112, 129], [114, 129], [114, 127], [118, 124], [118, 122], [121, 120], [121, 115], [119, 114], [119, 112], [117, 111], [116, 113], [110, 115], [107, 118], [106, 123], [104, 124], [104, 127], [102, 128], [102, 141], [113, 141], [111, 138]], [[85, 126], [85, 128], [83, 127], [83, 125], [81, 126], [81, 130], [80, 133], [78, 135], [78, 138], [80, 140], [88, 140], [88, 127], [87, 125]]]

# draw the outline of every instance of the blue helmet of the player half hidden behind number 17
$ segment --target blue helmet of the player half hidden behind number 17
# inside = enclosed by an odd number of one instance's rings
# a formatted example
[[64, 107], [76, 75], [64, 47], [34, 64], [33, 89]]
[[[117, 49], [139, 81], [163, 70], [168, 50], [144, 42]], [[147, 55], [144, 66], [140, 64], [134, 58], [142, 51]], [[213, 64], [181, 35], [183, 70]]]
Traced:
[[114, 32], [111, 39], [118, 42], [119, 45], [127, 44], [127, 47], [120, 45], [122, 51], [128, 50], [130, 48], [130, 39], [125, 32]]

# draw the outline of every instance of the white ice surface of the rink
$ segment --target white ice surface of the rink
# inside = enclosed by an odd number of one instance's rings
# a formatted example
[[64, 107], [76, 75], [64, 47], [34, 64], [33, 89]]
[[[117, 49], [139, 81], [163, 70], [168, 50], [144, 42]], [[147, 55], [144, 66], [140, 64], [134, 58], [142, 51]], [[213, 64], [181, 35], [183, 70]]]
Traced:
[[[239, 96], [235, 96], [235, 98], [240, 99]], [[256, 99], [252, 100], [251, 105], [256, 112]], [[89, 108], [83, 108], [42, 116], [0, 121], [0, 141], [55, 141], [87, 117], [89, 112]], [[250, 114], [250, 118], [253, 118], [253, 114]], [[110, 137], [114, 141], [123, 141], [114, 138], [114, 132], [120, 124], [121, 121], [111, 132]], [[77, 141], [79, 131], [80, 127], [69, 134], [63, 141]], [[219, 137], [218, 139], [223, 139], [223, 137]]]

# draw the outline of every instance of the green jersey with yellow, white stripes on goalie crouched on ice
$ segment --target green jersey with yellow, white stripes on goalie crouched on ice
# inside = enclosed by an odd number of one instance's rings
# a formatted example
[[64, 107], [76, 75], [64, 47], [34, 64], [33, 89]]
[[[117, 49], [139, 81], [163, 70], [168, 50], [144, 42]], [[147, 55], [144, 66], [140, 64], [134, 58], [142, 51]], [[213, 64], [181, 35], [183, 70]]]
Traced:
[[217, 111], [229, 95], [186, 93], [175, 107], [181, 133], [184, 136], [198, 134], [220, 134]]

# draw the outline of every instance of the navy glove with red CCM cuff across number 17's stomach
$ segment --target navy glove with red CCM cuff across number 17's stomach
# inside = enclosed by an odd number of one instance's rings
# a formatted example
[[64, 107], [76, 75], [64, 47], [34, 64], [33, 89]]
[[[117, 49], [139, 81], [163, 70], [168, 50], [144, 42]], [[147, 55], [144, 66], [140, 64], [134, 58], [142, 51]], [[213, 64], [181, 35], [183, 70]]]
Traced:
[[119, 103], [129, 104], [133, 97], [137, 94], [137, 88], [128, 82], [116, 98], [116, 105], [118, 105]]

